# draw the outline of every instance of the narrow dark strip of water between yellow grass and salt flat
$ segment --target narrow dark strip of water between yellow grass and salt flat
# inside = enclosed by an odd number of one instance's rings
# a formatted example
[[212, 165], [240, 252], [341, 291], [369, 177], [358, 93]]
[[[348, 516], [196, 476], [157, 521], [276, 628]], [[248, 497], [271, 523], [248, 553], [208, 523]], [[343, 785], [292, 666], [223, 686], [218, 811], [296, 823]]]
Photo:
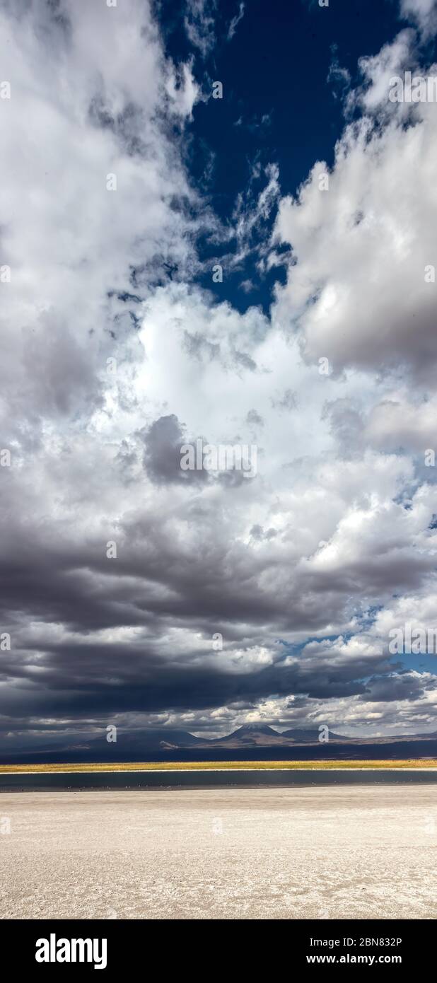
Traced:
[[64, 789], [217, 788], [262, 785], [393, 785], [432, 784], [437, 771], [241, 771], [241, 772], [111, 772], [82, 775], [0, 775], [2, 791]]

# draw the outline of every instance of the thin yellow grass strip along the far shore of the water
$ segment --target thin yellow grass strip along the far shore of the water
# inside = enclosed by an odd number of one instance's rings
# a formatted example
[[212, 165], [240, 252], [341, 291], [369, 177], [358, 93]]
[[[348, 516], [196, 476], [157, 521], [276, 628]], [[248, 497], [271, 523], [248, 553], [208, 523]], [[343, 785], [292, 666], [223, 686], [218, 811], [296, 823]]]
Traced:
[[154, 761], [154, 762], [116, 762], [74, 765], [0, 765], [0, 775], [23, 774], [39, 775], [44, 772], [75, 773], [75, 772], [197, 772], [197, 771], [237, 771], [251, 769], [275, 769], [292, 771], [293, 769], [329, 769], [337, 768], [437, 768], [437, 758], [409, 758], [403, 761], [393, 759], [381, 761]]

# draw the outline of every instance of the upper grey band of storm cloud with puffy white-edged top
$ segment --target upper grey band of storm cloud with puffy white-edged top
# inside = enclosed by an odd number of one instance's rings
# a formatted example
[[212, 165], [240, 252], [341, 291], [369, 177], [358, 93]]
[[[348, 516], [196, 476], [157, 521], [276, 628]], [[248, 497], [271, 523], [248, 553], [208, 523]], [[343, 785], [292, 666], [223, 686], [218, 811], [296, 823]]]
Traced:
[[[10, 527], [0, 564], [2, 609], [66, 620], [77, 629], [145, 623], [165, 615], [194, 617], [197, 623], [214, 618], [274, 623], [277, 633], [292, 627], [311, 633], [323, 628], [327, 616], [344, 618], [352, 586], [377, 600], [382, 590], [417, 587], [432, 570], [429, 556], [406, 551], [402, 563], [397, 544], [389, 552], [381, 544], [379, 552], [342, 563], [338, 570], [324, 572], [306, 563], [294, 572], [286, 541], [275, 551], [267, 543], [261, 552], [233, 543], [226, 522], [223, 530], [217, 524], [215, 505], [201, 494], [192, 500], [187, 489], [178, 517], [186, 539], [175, 538], [172, 510], [164, 508], [158, 521], [154, 512], [144, 511], [140, 519], [126, 517], [112, 528], [102, 523], [82, 543], [77, 536], [58, 538], [53, 524], [36, 530], [31, 522]], [[106, 542], [114, 537], [118, 555], [110, 561]]]

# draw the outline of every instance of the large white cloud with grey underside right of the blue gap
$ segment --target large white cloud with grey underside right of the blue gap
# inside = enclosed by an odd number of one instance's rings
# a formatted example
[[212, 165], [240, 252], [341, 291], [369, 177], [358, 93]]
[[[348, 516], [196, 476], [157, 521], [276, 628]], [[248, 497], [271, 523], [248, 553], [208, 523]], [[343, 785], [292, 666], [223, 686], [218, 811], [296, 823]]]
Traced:
[[278, 314], [299, 325], [305, 359], [328, 358], [334, 372], [403, 369], [429, 381], [437, 359], [435, 105], [388, 98], [395, 69], [414, 68], [413, 37], [403, 32], [361, 62], [372, 81], [360, 95], [363, 115], [345, 128], [332, 170], [316, 162], [297, 196], [281, 200], [274, 241], [293, 250]]

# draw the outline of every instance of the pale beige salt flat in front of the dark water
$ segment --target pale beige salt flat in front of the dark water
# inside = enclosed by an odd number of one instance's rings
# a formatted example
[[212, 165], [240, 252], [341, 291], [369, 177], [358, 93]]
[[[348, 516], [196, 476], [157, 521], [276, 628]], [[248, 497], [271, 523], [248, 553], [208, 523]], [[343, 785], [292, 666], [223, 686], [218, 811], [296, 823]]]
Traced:
[[2, 918], [437, 918], [437, 787], [0, 795]]

